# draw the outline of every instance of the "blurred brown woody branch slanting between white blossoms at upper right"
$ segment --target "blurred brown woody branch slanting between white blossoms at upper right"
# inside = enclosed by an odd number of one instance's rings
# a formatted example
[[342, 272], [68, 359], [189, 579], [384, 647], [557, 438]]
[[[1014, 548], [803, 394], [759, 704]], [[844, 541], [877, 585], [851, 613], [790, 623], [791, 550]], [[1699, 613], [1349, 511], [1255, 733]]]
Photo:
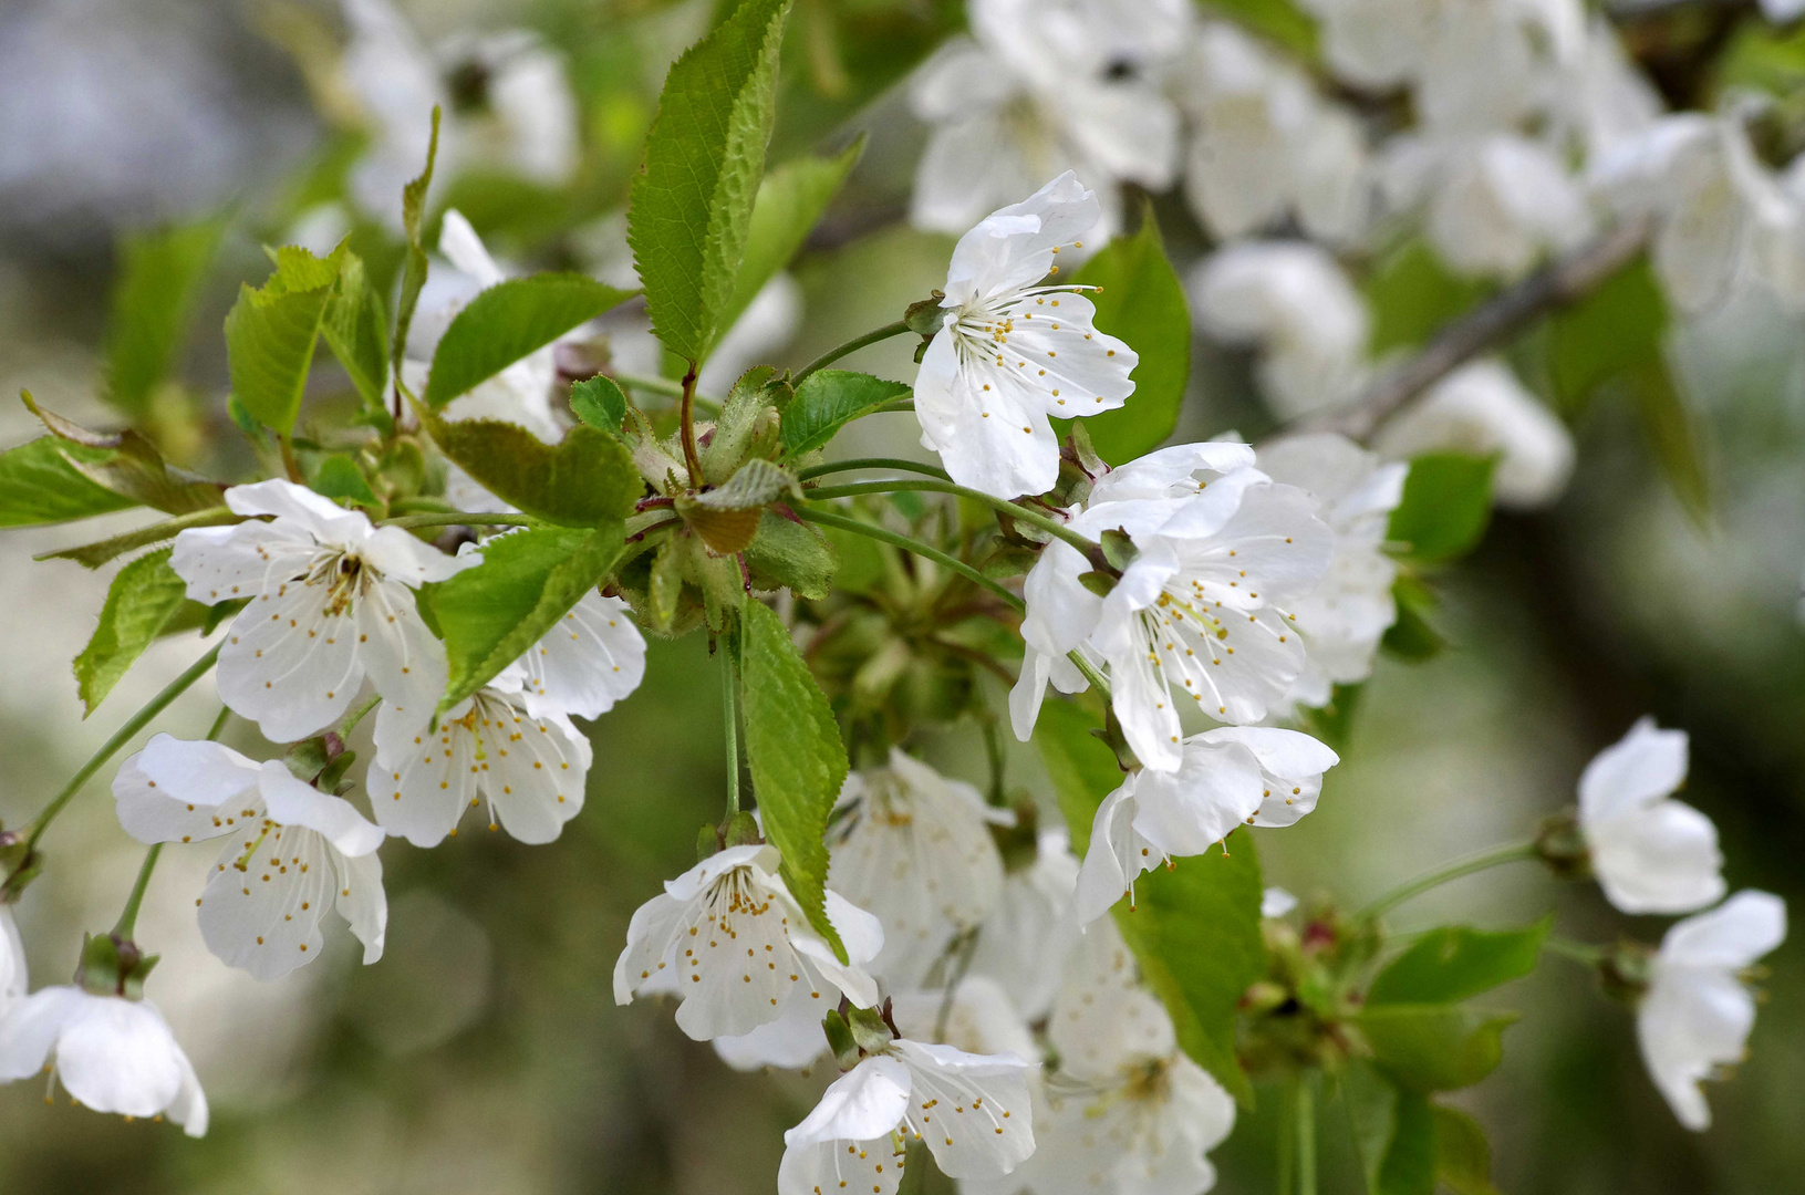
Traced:
[[1307, 421], [1307, 426], [1365, 440], [1386, 419], [1453, 370], [1550, 310], [1588, 296], [1643, 253], [1650, 231], [1650, 220], [1624, 220], [1597, 240], [1505, 287], [1480, 307], [1446, 325], [1417, 356], [1368, 383], [1352, 403]]

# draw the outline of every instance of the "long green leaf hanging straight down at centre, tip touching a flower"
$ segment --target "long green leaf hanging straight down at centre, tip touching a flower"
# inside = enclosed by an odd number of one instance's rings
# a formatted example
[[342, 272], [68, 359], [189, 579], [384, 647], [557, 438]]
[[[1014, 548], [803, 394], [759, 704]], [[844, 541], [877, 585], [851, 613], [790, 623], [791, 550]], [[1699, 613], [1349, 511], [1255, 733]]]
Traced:
[[827, 921], [821, 836], [847, 782], [847, 747], [783, 621], [760, 601], [747, 601], [740, 617], [745, 765], [765, 838], [783, 854], [783, 881], [809, 924], [845, 960], [847, 948]]

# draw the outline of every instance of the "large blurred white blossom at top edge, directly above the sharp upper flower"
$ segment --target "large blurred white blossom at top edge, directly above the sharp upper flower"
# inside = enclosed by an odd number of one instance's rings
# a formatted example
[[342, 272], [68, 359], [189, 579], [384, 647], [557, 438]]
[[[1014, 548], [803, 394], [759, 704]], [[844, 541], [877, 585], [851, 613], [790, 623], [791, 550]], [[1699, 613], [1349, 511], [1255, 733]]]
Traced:
[[971, 38], [915, 74], [933, 126], [910, 218], [960, 233], [1043, 179], [1074, 171], [1099, 197], [1096, 245], [1121, 226], [1119, 182], [1162, 191], [1179, 114], [1157, 74], [1184, 42], [1182, 0], [975, 0]]

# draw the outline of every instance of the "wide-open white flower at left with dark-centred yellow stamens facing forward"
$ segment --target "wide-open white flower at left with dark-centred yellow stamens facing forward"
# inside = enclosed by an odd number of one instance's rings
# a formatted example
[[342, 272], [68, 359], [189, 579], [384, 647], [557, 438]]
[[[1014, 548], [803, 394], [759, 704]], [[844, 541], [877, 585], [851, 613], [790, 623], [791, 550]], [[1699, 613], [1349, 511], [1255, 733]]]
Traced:
[[220, 699], [271, 742], [294, 742], [345, 713], [368, 675], [424, 722], [446, 682], [446, 653], [413, 608], [413, 588], [482, 558], [372, 527], [361, 511], [291, 482], [235, 486], [226, 505], [274, 518], [190, 527], [170, 558], [191, 599], [249, 599], [220, 648]]

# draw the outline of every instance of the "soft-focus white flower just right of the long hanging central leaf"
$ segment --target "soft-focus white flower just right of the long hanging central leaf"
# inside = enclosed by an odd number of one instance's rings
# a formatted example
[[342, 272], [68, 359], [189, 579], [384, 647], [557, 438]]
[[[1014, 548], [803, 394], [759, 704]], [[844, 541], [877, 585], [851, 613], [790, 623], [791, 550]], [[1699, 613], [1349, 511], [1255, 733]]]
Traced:
[[1004, 865], [989, 823], [1014, 818], [893, 747], [890, 767], [847, 776], [839, 803], [828, 879], [884, 926], [872, 973], [892, 991], [919, 987], [953, 935], [996, 906]]

